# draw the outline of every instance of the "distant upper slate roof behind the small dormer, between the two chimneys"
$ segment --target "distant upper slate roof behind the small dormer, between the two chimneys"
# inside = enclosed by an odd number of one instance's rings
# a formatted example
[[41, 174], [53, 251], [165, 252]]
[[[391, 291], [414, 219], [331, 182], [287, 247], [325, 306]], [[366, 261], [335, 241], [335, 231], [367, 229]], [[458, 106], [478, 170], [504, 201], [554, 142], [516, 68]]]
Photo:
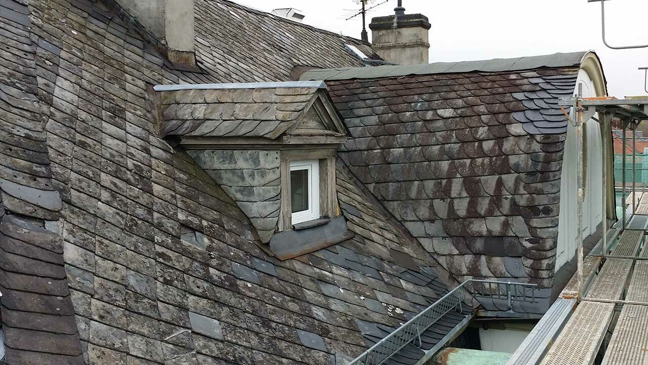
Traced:
[[364, 66], [371, 45], [226, 0], [196, 0], [196, 60], [218, 82], [287, 81], [295, 66]]

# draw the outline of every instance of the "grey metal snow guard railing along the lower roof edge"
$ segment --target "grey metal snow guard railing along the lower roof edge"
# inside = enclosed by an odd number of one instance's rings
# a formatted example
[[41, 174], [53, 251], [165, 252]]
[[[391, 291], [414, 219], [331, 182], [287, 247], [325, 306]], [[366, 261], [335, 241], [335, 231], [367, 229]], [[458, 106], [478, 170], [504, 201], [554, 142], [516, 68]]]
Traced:
[[[480, 284], [480, 288], [471, 294], [465, 286], [470, 283]], [[398, 329], [378, 341], [362, 355], [356, 357], [349, 365], [380, 365], [395, 355], [405, 346], [412, 344], [422, 346], [421, 334], [434, 323], [443, 318], [451, 310], [463, 312], [462, 303], [470, 295], [488, 297], [491, 299], [505, 299], [509, 310], [513, 308], [514, 301], [535, 302], [536, 284], [511, 283], [504, 281], [487, 281], [469, 279], [459, 284], [441, 299], [435, 301], [430, 307], [425, 308], [411, 320], [401, 325]], [[529, 292], [529, 295], [527, 295]]]

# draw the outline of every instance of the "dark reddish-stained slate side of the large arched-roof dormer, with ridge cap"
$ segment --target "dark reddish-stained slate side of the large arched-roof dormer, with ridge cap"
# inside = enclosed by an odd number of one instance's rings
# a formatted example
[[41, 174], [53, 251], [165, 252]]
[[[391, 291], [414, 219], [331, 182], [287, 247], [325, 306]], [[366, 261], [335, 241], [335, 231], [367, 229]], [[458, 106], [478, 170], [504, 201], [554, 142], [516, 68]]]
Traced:
[[303, 79], [329, 75], [352, 137], [340, 157], [444, 268], [459, 281], [537, 283], [542, 300], [522, 309], [543, 313], [568, 123], [557, 97], [573, 94], [585, 55], [318, 70]]

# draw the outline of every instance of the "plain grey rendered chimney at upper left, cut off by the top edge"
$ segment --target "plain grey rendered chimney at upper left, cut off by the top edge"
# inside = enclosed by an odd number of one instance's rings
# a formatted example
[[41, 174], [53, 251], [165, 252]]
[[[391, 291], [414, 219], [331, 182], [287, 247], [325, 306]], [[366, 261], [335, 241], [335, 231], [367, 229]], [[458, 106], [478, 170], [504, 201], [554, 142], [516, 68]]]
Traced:
[[194, 0], [117, 0], [117, 3], [165, 46], [163, 51], [174, 66], [196, 68]]

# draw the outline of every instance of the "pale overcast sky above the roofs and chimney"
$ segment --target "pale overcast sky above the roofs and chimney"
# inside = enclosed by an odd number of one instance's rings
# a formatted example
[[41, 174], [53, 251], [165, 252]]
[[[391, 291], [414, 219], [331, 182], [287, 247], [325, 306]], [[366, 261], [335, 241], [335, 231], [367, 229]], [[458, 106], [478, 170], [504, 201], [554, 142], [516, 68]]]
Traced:
[[[360, 17], [346, 21], [354, 0], [235, 0], [270, 12], [294, 7], [304, 23], [360, 38]], [[375, 0], [374, 4], [384, 0]], [[393, 14], [397, 0], [375, 8], [367, 16]], [[648, 48], [612, 50], [601, 40], [601, 5], [587, 0], [403, 0], [407, 13], [430, 19], [430, 62], [484, 60], [594, 49], [603, 63], [608, 92], [616, 97], [645, 95], [643, 71]], [[648, 1], [605, 3], [608, 43], [648, 44]], [[371, 39], [371, 31], [367, 27]]]

